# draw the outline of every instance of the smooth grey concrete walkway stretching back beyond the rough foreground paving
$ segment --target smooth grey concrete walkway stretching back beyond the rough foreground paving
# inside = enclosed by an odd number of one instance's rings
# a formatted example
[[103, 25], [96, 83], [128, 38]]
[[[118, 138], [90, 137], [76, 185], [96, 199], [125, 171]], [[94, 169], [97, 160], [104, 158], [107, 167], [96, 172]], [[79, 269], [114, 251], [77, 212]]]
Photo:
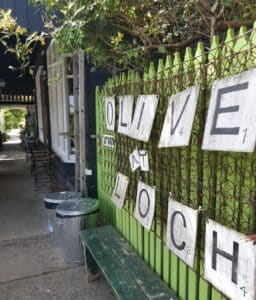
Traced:
[[0, 241], [47, 233], [46, 212], [19, 144], [0, 151]]

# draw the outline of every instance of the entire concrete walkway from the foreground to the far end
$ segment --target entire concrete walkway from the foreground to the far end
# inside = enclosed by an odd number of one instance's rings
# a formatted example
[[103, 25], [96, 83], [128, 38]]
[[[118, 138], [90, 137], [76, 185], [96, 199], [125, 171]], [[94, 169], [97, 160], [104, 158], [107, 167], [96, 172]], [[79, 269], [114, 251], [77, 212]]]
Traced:
[[42, 199], [33, 192], [19, 145], [0, 151], [0, 300], [114, 299], [104, 279], [87, 283], [84, 266], [68, 266], [47, 235]]

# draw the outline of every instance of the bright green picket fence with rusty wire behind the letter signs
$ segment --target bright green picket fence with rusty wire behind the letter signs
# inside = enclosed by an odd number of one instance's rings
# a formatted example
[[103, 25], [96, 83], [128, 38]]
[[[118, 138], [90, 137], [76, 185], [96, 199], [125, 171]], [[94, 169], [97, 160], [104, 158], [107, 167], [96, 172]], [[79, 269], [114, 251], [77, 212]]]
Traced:
[[[160, 59], [143, 76], [135, 71], [108, 80], [96, 91], [98, 198], [101, 218], [113, 224], [139, 255], [177, 293], [180, 299], [226, 299], [204, 278], [204, 228], [206, 217], [242, 233], [256, 230], [256, 155], [202, 151], [211, 86], [216, 79], [256, 67], [256, 23], [252, 30], [232, 29], [222, 44], [216, 36], [208, 51], [199, 42], [195, 53], [187, 48], [181, 55]], [[182, 59], [183, 57], [183, 59]], [[159, 149], [158, 141], [168, 98], [194, 84], [200, 84], [199, 103], [188, 147]], [[115, 132], [115, 148], [104, 147], [102, 136], [113, 135], [105, 126], [105, 97], [112, 95], [159, 95], [150, 141], [143, 143]], [[118, 106], [118, 102], [116, 102]], [[118, 111], [118, 107], [117, 107]], [[150, 171], [130, 170], [129, 154], [135, 148], [149, 152]], [[117, 171], [130, 179], [122, 210], [111, 201]], [[156, 210], [150, 232], [134, 218], [138, 179], [156, 186]], [[175, 200], [192, 208], [202, 207], [199, 218], [196, 262], [187, 267], [165, 246], [169, 192]]]

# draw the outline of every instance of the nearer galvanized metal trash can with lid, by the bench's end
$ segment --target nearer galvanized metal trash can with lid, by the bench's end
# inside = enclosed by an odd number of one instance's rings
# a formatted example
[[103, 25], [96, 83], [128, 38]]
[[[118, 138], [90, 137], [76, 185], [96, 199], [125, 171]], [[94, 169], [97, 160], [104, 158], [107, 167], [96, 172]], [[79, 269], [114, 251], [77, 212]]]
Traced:
[[56, 208], [60, 247], [65, 260], [70, 265], [84, 263], [80, 231], [97, 226], [99, 201], [93, 198], [80, 198], [66, 201]]

